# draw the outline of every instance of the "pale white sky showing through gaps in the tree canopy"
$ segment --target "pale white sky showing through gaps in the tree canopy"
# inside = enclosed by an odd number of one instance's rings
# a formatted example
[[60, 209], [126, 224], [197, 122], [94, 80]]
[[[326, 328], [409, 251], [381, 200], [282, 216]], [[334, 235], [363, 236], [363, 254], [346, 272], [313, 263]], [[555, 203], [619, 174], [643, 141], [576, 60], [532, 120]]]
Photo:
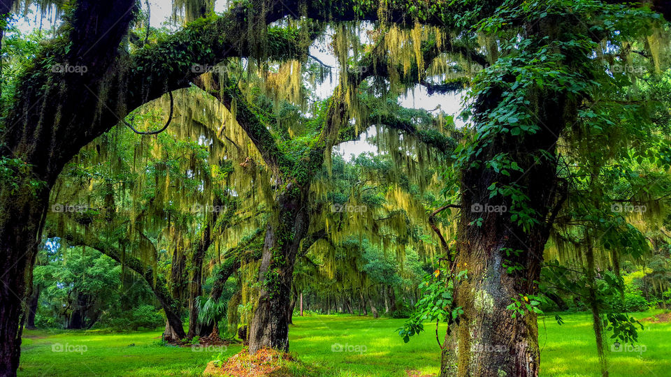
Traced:
[[[172, 15], [172, 0], [150, 0], [151, 7], [151, 16], [150, 24], [152, 27], [160, 27], [161, 24], [165, 24], [167, 27], [174, 28], [171, 24], [168, 23], [169, 18]], [[144, 1], [142, 2], [144, 8]], [[223, 12], [226, 10], [227, 1], [218, 0], [215, 1], [215, 12]], [[21, 31], [30, 31], [36, 27], [39, 27], [40, 20], [35, 16], [33, 12], [32, 17], [27, 17], [26, 20], [20, 20], [17, 27]], [[48, 20], [43, 20], [43, 27], [50, 28], [52, 24]], [[369, 26], [372, 28], [372, 26]], [[365, 35], [365, 34], [364, 34]], [[324, 45], [319, 45], [318, 42], [315, 42], [310, 46], [310, 54], [317, 57], [317, 59], [324, 62], [329, 66], [338, 66], [338, 61], [333, 54], [328, 53], [329, 49], [324, 48]], [[326, 80], [323, 84], [320, 84], [316, 88], [316, 95], [319, 98], [326, 98], [330, 96], [335, 88], [335, 84], [338, 82], [338, 68], [333, 69], [333, 80]], [[424, 110], [433, 110], [440, 106], [440, 109], [449, 115], [455, 116], [456, 126], [463, 126], [463, 121], [456, 119], [456, 115], [461, 112], [461, 94], [433, 94], [429, 96], [424, 87], [417, 85], [407, 91], [407, 94], [401, 97], [401, 105], [405, 108], [421, 108]], [[370, 129], [369, 135], [374, 135], [375, 129]], [[345, 159], [349, 160], [353, 155], [359, 155], [363, 152], [373, 152], [377, 151], [377, 148], [373, 145], [370, 145], [365, 141], [366, 136], [356, 142], [346, 142], [335, 148], [336, 153], [341, 154]]]

